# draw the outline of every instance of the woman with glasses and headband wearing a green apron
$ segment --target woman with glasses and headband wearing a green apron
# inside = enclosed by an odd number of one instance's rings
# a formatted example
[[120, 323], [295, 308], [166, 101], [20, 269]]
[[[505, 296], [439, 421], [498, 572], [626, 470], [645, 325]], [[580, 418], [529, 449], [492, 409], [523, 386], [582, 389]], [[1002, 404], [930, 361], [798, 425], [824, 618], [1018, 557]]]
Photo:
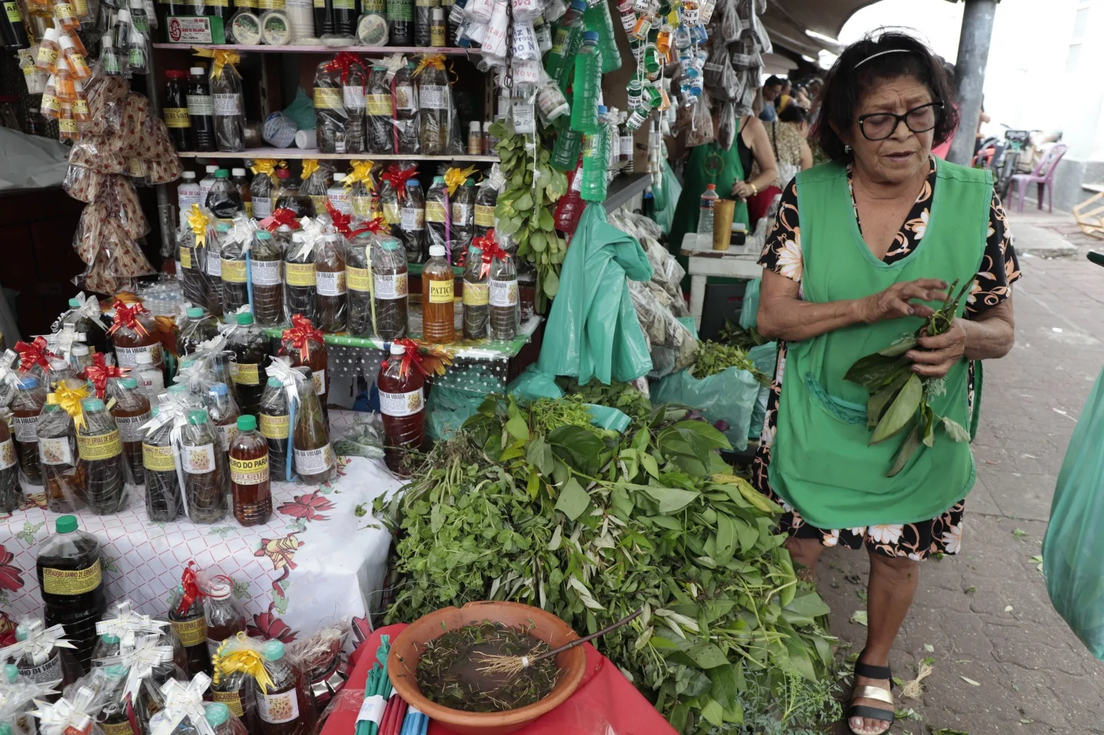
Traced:
[[975, 468], [969, 446], [940, 426], [888, 477], [909, 433], [868, 446], [869, 394], [843, 375], [920, 329], [955, 279], [973, 287], [951, 330], [905, 353], [916, 375], [944, 379], [928, 395], [935, 414], [969, 425], [977, 361], [1012, 347], [1020, 274], [992, 182], [930, 152], [956, 127], [952, 100], [920, 41], [884, 32], [849, 46], [814, 128], [831, 162], [786, 187], [761, 258], [758, 330], [779, 355], [754, 480], [783, 504], [790, 554], [809, 573], [825, 546], [867, 548], [869, 628], [848, 713], [858, 735], [890, 729], [890, 648], [920, 562], [960, 548]]

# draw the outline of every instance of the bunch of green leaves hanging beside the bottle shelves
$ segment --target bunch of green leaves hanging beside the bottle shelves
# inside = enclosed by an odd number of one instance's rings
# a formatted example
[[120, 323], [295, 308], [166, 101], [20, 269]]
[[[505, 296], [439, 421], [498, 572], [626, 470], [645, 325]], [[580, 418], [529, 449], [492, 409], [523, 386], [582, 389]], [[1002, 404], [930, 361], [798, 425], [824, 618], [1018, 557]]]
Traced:
[[499, 139], [499, 168], [506, 177], [495, 207], [497, 231], [517, 241], [518, 257], [537, 268], [537, 308], [543, 311], [545, 299], [560, 290], [560, 266], [567, 252], [552, 219], [552, 206], [567, 193], [567, 177], [549, 163], [552, 151], [540, 136], [514, 132], [509, 120], [491, 125], [490, 134]]

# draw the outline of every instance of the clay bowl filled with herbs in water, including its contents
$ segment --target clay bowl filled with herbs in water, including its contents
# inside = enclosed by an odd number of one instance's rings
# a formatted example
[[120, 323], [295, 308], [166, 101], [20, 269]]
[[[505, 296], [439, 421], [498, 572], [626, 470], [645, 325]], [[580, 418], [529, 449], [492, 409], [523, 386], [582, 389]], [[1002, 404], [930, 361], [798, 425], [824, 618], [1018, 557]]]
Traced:
[[575, 692], [586, 668], [582, 646], [530, 661], [576, 638], [560, 618], [520, 603], [445, 607], [399, 633], [388, 674], [412, 707], [453, 732], [503, 735]]

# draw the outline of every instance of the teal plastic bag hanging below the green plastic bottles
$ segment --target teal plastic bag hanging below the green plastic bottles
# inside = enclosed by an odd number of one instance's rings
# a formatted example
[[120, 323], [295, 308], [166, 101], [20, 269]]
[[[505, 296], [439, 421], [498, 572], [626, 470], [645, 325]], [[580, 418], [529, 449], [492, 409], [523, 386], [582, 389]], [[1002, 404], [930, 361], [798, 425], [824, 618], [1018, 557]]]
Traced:
[[563, 262], [540, 370], [583, 385], [592, 377], [608, 385], [647, 374], [651, 356], [625, 278], [651, 275], [640, 243], [606, 222], [602, 204], [588, 204]]

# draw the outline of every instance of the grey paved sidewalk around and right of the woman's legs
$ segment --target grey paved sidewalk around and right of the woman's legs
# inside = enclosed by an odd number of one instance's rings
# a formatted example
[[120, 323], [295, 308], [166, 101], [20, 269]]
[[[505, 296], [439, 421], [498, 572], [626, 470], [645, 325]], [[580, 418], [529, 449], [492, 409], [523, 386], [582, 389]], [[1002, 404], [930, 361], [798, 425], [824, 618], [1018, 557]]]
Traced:
[[[1104, 366], [1104, 268], [1084, 258], [1087, 244], [1100, 241], [1075, 225], [1070, 232], [1065, 217], [1011, 215], [1025, 253], [1015, 288], [1016, 347], [986, 364], [974, 444], [978, 482], [966, 501], [963, 551], [922, 564], [891, 657], [903, 681], [916, 678], [922, 659], [935, 659], [920, 699], [895, 693], [898, 710], [913, 710], [915, 718], [899, 721], [893, 733], [1104, 734], [1104, 663], [1051, 607], [1032, 561], [1070, 435]], [[1076, 255], [1039, 257], [1047, 251], [1040, 237], [1061, 239]], [[1104, 243], [1096, 247], [1104, 251]], [[832, 609], [832, 632], [858, 652], [866, 631], [849, 618], [866, 609], [867, 555], [834, 548], [821, 558], [819, 588]], [[848, 732], [842, 724], [837, 731]]]

